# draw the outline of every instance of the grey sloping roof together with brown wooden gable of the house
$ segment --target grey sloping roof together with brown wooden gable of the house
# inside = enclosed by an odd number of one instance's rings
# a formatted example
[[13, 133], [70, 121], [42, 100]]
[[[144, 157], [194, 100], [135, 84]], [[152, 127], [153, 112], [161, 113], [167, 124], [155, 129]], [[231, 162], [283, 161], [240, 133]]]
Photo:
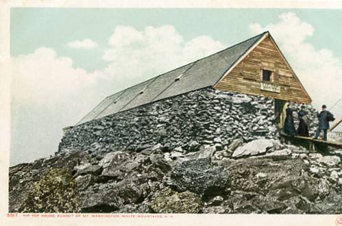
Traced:
[[264, 32], [110, 95], [77, 125], [208, 87], [275, 99], [276, 112], [286, 101], [311, 103], [271, 34]]

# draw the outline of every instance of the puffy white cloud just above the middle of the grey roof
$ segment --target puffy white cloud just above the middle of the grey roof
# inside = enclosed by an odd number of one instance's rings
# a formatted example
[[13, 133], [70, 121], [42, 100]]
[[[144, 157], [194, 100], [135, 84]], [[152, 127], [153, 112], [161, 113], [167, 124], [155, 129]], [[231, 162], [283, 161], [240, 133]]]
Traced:
[[184, 38], [171, 25], [162, 27], [118, 26], [110, 37], [103, 60], [110, 62], [104, 70], [108, 77], [120, 76], [123, 86], [143, 81], [188, 62], [225, 48], [209, 36]]

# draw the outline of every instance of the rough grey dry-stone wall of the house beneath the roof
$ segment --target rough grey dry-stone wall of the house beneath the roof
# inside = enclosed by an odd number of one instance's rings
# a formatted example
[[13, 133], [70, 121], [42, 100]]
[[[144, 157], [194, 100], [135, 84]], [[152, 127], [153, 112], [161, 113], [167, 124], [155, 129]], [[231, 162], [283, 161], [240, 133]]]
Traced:
[[66, 131], [59, 153], [145, 149], [191, 151], [200, 145], [227, 149], [276, 136], [273, 99], [204, 88], [89, 121]]

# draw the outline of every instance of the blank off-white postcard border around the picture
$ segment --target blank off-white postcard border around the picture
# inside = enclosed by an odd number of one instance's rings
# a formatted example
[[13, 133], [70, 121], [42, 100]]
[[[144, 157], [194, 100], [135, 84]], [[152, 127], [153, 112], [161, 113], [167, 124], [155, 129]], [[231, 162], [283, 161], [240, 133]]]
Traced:
[[0, 2], [0, 224], [1, 225], [335, 225], [338, 215], [173, 214], [173, 218], [8, 217], [10, 155], [10, 8], [342, 8], [342, 1], [225, 0], [2, 0]]

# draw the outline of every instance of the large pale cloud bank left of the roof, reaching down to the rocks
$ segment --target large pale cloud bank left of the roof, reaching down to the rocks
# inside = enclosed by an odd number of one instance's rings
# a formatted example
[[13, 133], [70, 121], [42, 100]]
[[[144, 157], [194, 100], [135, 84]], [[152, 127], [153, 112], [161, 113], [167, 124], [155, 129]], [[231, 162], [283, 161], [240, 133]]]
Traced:
[[118, 26], [108, 44], [108, 66], [93, 73], [46, 47], [12, 58], [12, 164], [57, 151], [62, 127], [106, 95], [225, 47], [209, 36], [185, 41], [172, 26]]

